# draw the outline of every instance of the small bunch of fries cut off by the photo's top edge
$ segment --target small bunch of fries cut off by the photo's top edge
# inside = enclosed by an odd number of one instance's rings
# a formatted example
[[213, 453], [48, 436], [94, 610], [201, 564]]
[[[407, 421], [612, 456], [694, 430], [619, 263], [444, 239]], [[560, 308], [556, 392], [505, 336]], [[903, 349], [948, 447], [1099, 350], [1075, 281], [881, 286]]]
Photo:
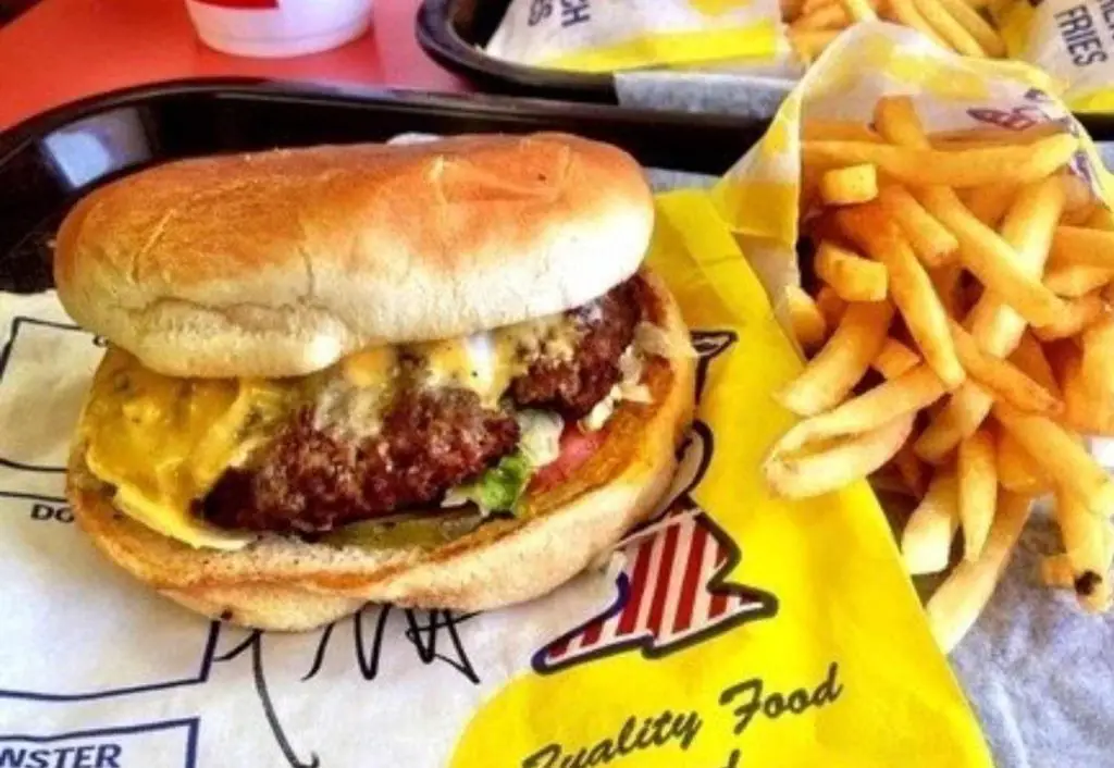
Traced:
[[978, 58], [1004, 58], [1006, 43], [983, 14], [987, 0], [781, 0], [798, 56], [811, 64], [859, 21], [883, 19], [918, 30], [940, 46]]

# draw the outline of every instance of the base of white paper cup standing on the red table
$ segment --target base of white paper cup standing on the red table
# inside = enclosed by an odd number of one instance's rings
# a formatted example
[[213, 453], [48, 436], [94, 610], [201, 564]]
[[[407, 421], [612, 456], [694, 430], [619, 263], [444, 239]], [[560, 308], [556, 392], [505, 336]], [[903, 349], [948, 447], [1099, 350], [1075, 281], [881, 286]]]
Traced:
[[372, 0], [186, 0], [205, 45], [260, 58], [343, 46], [367, 31], [371, 4]]

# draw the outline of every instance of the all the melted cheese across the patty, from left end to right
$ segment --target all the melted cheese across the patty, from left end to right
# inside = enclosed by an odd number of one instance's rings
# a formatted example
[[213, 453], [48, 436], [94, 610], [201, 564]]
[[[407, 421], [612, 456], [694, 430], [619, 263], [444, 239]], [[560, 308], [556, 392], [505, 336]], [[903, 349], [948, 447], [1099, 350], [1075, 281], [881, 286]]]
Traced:
[[221, 474], [243, 464], [306, 404], [315, 424], [352, 439], [378, 429], [400, 356], [423, 359], [426, 386], [463, 387], [495, 407], [535, 354], [571, 354], [577, 331], [563, 315], [404, 348], [349, 356], [304, 379], [184, 379], [110, 349], [81, 418], [86, 465], [116, 487], [125, 514], [195, 547], [236, 550], [254, 534], [209, 525], [193, 513]]

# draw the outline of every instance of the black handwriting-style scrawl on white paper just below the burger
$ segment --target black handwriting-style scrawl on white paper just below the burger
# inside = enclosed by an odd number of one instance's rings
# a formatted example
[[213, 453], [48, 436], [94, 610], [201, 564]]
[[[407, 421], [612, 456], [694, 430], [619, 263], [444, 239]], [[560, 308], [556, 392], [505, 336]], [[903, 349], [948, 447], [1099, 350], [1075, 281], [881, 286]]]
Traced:
[[[353, 655], [356, 662], [356, 670], [365, 681], [373, 681], [379, 675], [380, 658], [388, 636], [388, 621], [393, 611], [401, 613], [404, 619], [405, 629], [402, 632], [402, 636], [413, 645], [418, 660], [421, 663], [429, 665], [436, 661], [440, 661], [456, 670], [467, 682], [473, 686], [479, 684], [479, 674], [476, 672], [460, 639], [460, 633], [457, 631], [461, 624], [479, 614], [465, 613], [453, 615], [451, 611], [417, 611], [413, 609], [395, 609], [391, 605], [371, 604], [362, 607], [351, 619], [345, 619], [343, 622], [334, 622], [320, 631], [320, 638], [310, 668], [299, 679], [299, 682], [313, 680], [317, 675], [324, 663], [329, 648], [333, 644], [334, 639], [340, 636], [338, 629], [345, 624], [352, 628]], [[369, 625], [371, 625], [370, 631]], [[263, 662], [267, 636], [270, 635], [261, 630], [252, 630], [246, 638], [231, 650], [215, 655], [213, 661], [215, 663], [227, 663], [242, 655], [250, 655], [252, 679], [256, 697], [263, 709], [263, 717], [286, 764], [291, 768], [320, 768], [322, 764], [317, 754], [311, 750], [309, 757], [300, 756], [291, 742], [290, 736], [286, 733], [286, 728], [278, 720], [274, 698], [271, 693], [271, 686], [267, 681], [266, 668]]]

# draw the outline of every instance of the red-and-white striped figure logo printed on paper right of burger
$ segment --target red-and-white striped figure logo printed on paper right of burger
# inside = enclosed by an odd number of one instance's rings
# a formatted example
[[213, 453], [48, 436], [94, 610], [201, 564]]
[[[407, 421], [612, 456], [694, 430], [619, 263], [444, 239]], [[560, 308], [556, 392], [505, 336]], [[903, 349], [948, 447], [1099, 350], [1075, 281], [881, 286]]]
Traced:
[[[734, 334], [726, 332], [693, 334], [701, 356], [697, 393], [709, 363], [734, 341]], [[661, 511], [619, 547], [617, 599], [535, 653], [536, 671], [555, 672], [634, 648], [658, 658], [776, 613], [772, 594], [725, 581], [740, 550], [690, 495], [711, 461], [712, 448], [711, 429], [697, 421], [682, 447], [677, 475]]]

